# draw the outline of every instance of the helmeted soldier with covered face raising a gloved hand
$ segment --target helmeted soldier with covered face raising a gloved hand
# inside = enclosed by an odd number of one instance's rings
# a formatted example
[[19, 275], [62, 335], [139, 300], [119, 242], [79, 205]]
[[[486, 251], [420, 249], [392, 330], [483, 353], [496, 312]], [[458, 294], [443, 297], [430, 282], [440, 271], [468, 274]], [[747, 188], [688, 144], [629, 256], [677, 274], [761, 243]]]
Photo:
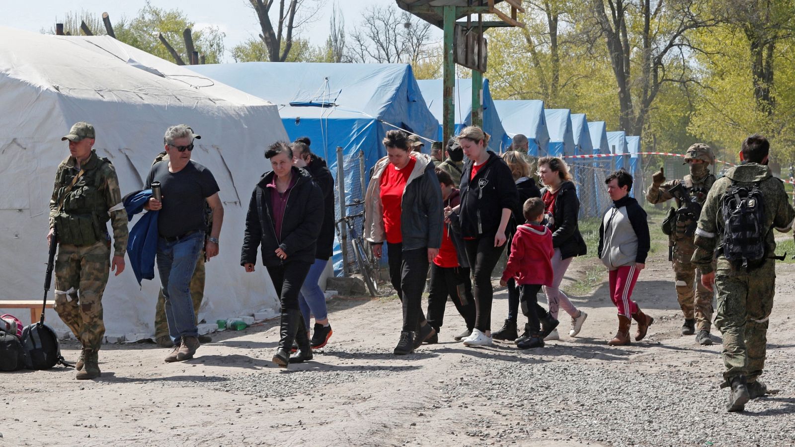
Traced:
[[[681, 184], [691, 198], [704, 204], [707, 193], [715, 183], [715, 176], [709, 172], [709, 165], [715, 160], [712, 149], [704, 143], [696, 143], [688, 148], [684, 162], [690, 165], [690, 174], [680, 180], [665, 181], [662, 170], [652, 177], [652, 185], [646, 192], [646, 200], [651, 204], [659, 204], [666, 200], [675, 199], [677, 210], [681, 208], [681, 200], [673, 196], [670, 190]], [[677, 215], [673, 225], [669, 227], [668, 243], [673, 261], [673, 274], [676, 278], [677, 298], [679, 306], [684, 313], [682, 335], [692, 335], [698, 329], [696, 342], [712, 344], [709, 336], [712, 325], [712, 291], [701, 286], [697, 278], [696, 266], [690, 262], [695, 238], [695, 221], [698, 216], [689, 216], [684, 213]], [[696, 286], [695, 293], [693, 286]]]

